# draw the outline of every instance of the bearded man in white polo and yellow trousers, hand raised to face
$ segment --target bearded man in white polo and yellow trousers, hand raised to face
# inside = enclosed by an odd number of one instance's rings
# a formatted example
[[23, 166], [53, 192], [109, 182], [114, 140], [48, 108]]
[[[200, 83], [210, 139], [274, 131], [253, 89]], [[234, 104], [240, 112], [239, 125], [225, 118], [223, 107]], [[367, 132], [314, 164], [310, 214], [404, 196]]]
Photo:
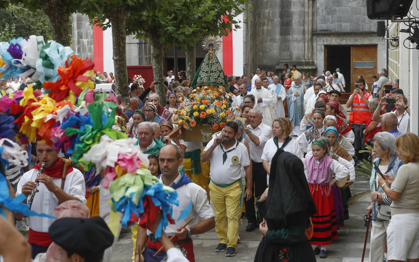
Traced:
[[244, 198], [248, 200], [252, 195], [252, 167], [246, 146], [235, 139], [237, 132], [237, 123], [225, 123], [222, 135], [209, 141], [201, 154], [202, 162], [211, 162], [209, 193], [215, 213], [215, 233], [220, 237], [220, 244], [215, 251], [222, 252], [227, 248], [226, 257], [234, 256], [237, 248], [243, 192], [241, 167], [244, 167], [247, 178]]

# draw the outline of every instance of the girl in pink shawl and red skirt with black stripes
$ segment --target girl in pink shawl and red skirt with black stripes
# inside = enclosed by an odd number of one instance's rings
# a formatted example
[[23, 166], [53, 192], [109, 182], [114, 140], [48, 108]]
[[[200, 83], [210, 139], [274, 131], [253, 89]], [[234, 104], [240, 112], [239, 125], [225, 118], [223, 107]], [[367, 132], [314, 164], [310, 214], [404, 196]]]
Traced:
[[321, 258], [327, 257], [326, 245], [337, 238], [331, 187], [349, 175], [347, 167], [327, 155], [329, 144], [330, 142], [324, 137], [315, 139], [312, 143], [313, 156], [303, 160], [305, 177], [317, 208], [317, 213], [311, 217], [314, 229], [310, 243], [317, 245], [314, 254], [320, 254]]

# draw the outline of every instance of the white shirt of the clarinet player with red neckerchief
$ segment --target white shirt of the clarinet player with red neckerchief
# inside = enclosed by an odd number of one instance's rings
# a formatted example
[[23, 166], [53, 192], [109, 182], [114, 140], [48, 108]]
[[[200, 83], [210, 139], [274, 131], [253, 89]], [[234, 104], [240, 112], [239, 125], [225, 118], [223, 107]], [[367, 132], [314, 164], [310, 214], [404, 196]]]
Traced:
[[[59, 160], [61, 161], [61, 160]], [[16, 195], [22, 193], [22, 186], [28, 181], [35, 181], [35, 177], [38, 170], [32, 169], [22, 175], [21, 180], [18, 182], [16, 188]], [[61, 178], [52, 178], [55, 185], [61, 188]], [[58, 198], [54, 193], [50, 192], [44, 183], [39, 183], [39, 192], [36, 193], [34, 201], [32, 202], [31, 210], [38, 213], [45, 213], [50, 216], [54, 216], [54, 208], [58, 206]], [[80, 199], [83, 204], [86, 204], [86, 185], [84, 182], [84, 175], [77, 169], [73, 168], [73, 171], [67, 174], [64, 184], [64, 192]], [[29, 198], [29, 197], [28, 197]], [[48, 232], [49, 226], [56, 219], [45, 218], [39, 216], [28, 216], [28, 226], [39, 232]]]

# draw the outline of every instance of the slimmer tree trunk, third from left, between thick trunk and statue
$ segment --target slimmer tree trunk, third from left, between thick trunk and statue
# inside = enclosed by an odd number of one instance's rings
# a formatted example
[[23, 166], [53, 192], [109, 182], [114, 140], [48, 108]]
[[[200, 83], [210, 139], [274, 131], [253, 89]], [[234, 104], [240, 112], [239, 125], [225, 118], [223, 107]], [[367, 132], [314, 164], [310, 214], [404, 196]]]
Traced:
[[163, 71], [163, 59], [164, 49], [166, 44], [160, 43], [158, 37], [150, 34], [151, 46], [153, 51], [151, 52], [151, 60], [153, 62], [153, 75], [155, 81], [160, 81], [160, 84], [154, 85], [155, 92], [160, 96], [160, 105], [166, 105], [166, 87], [164, 87], [164, 71]]

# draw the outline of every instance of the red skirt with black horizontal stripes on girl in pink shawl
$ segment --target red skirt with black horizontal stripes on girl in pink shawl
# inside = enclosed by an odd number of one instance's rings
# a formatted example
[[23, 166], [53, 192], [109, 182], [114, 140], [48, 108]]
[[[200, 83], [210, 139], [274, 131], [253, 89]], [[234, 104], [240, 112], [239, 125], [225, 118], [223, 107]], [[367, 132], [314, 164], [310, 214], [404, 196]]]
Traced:
[[311, 197], [316, 204], [317, 213], [311, 216], [313, 221], [313, 237], [310, 244], [328, 245], [337, 238], [336, 213], [332, 188], [328, 184], [313, 185], [308, 183]]

